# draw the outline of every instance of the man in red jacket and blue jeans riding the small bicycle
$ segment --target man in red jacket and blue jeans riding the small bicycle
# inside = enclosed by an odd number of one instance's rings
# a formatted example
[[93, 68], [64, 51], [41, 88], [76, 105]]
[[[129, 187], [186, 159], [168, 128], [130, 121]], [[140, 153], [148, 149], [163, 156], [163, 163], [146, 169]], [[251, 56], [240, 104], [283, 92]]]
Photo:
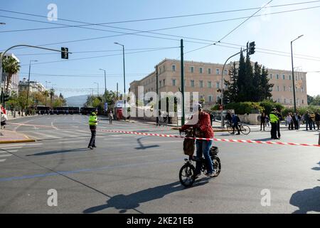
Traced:
[[[186, 130], [188, 128], [196, 129], [196, 138], [208, 138], [208, 140], [196, 140], [196, 155], [197, 157], [205, 157], [206, 166], [207, 166], [207, 176], [215, 177], [213, 174], [213, 164], [211, 157], [209, 155], [210, 147], [212, 146], [213, 140], [213, 129], [210, 123], [210, 115], [208, 113], [203, 112], [202, 105], [198, 104], [198, 122], [195, 125], [186, 124], [179, 128], [180, 131]], [[194, 109], [193, 109], [194, 110]], [[194, 114], [196, 115], [196, 114]], [[194, 117], [192, 116], [192, 118]], [[199, 177], [201, 175], [201, 162], [196, 162], [196, 170], [195, 177]]]

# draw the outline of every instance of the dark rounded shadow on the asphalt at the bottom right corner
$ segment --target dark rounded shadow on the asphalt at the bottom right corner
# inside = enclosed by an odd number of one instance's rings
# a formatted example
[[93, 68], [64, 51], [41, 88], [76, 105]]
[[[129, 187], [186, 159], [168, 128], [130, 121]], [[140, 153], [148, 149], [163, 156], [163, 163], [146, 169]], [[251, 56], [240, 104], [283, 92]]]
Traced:
[[[320, 165], [320, 162], [317, 164]], [[319, 171], [320, 167], [313, 167], [312, 170]], [[299, 207], [293, 214], [320, 212], [320, 186], [295, 192], [290, 198], [290, 204]]]

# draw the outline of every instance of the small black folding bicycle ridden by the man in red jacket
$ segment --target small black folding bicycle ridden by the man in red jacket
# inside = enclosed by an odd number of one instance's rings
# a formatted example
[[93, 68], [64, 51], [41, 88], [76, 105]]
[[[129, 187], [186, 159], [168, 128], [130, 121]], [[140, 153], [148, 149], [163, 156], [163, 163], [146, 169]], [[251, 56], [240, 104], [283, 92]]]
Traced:
[[[188, 129], [186, 130], [186, 137], [193, 137], [194, 138], [194, 130]], [[218, 175], [221, 172], [221, 162], [218, 155], [218, 147], [212, 146], [209, 151], [209, 155], [211, 157], [211, 160], [213, 162], [213, 175], [215, 177], [218, 177]], [[186, 152], [185, 152], [186, 154]], [[193, 162], [201, 162], [201, 172], [206, 174], [207, 167], [206, 167], [206, 160], [203, 157], [196, 157], [193, 155], [189, 155], [189, 158], [185, 158], [184, 161], [186, 162], [179, 171], [179, 180], [181, 182], [181, 185], [185, 187], [191, 187], [193, 183], [196, 180], [196, 167], [193, 165]]]

